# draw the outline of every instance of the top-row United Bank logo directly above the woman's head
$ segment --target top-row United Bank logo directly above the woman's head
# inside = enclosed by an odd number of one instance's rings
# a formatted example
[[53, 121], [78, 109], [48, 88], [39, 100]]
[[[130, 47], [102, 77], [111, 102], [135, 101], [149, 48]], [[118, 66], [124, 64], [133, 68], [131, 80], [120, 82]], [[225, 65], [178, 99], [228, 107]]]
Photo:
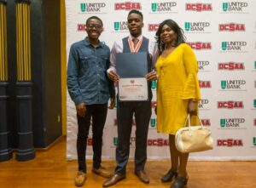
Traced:
[[176, 2], [151, 3], [152, 13], [172, 13], [174, 7], [177, 7]]

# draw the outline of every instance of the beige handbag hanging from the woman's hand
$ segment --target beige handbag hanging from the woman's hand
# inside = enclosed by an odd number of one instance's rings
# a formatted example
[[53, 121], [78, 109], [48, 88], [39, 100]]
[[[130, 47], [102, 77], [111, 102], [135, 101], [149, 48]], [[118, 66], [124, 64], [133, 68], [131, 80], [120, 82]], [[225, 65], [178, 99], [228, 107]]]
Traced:
[[[199, 120], [201, 123], [200, 118]], [[186, 127], [187, 122], [189, 122], [188, 127]], [[184, 127], [178, 129], [175, 134], [175, 145], [177, 151], [182, 153], [212, 150], [213, 140], [211, 130], [203, 127], [202, 123], [200, 126], [190, 126], [190, 116], [188, 115]]]

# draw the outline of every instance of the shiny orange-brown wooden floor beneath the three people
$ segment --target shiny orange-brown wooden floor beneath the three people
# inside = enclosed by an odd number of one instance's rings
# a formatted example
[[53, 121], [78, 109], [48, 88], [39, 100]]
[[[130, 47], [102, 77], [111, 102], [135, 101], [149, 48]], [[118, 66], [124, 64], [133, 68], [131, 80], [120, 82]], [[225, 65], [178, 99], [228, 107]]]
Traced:
[[[103, 162], [113, 170], [114, 162]], [[170, 162], [149, 161], [147, 172], [150, 184], [144, 185], [133, 174], [133, 162], [129, 162], [126, 179], [113, 188], [167, 188], [160, 177], [169, 168]], [[90, 173], [84, 187], [102, 187], [103, 178]], [[62, 138], [49, 151], [37, 151], [37, 157], [29, 162], [15, 159], [0, 162], [1, 188], [70, 188], [76, 174], [77, 162], [66, 161], [66, 140]], [[189, 162], [189, 183], [187, 188], [256, 188], [256, 162]]]

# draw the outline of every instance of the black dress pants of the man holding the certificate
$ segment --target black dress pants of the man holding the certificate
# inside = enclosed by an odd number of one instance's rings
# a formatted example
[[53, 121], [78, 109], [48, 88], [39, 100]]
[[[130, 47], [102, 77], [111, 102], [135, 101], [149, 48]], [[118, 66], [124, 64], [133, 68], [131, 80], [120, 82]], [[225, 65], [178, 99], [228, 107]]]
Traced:
[[118, 102], [118, 145], [116, 148], [116, 174], [125, 174], [130, 153], [132, 117], [136, 122], [135, 171], [144, 169], [147, 160], [148, 125], [151, 117], [151, 101]]

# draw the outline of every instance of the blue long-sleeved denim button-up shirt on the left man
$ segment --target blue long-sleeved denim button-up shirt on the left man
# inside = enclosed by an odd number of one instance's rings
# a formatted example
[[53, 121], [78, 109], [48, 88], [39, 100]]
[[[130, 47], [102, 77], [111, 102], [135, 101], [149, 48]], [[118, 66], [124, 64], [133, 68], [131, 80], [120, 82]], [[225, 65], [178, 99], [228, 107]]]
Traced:
[[73, 43], [67, 65], [67, 89], [76, 105], [104, 104], [114, 97], [113, 82], [107, 77], [110, 50], [99, 43], [94, 48], [87, 38]]

